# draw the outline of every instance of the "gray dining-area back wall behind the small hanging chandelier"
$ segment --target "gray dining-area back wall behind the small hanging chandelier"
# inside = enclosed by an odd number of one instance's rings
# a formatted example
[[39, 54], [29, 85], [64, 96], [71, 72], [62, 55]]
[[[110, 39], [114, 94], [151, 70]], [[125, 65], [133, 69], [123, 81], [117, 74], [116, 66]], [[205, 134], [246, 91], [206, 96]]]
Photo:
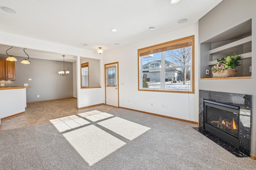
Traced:
[[[0, 83], [5, 86], [24, 86], [24, 83], [28, 83], [31, 88], [26, 89], [27, 102], [73, 97], [72, 63], [65, 62], [66, 71], [70, 71], [69, 75], [60, 76], [58, 71], [62, 71], [63, 61], [30, 58], [30, 64], [22, 64], [20, 62], [23, 58], [16, 57], [16, 80], [0, 80]], [[32, 80], [29, 81], [29, 78]]]

